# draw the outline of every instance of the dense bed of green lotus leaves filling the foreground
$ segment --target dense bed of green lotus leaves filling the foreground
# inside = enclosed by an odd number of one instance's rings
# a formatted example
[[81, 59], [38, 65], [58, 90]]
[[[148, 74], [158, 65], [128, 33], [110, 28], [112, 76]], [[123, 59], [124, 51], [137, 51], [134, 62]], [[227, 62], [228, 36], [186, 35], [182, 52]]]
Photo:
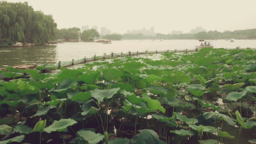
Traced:
[[2, 143], [256, 143], [256, 52], [0, 71]]

